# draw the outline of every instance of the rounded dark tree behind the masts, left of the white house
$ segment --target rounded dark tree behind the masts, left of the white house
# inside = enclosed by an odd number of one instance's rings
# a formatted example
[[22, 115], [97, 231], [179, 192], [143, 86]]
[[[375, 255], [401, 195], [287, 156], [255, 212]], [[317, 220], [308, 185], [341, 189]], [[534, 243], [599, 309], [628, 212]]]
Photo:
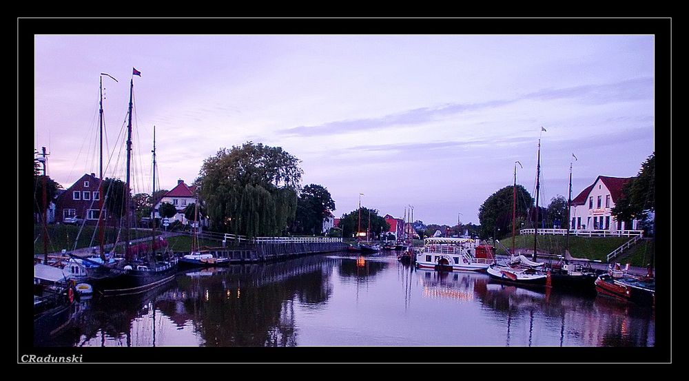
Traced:
[[[513, 185], [508, 185], [486, 198], [479, 208], [478, 218], [481, 223], [481, 238], [502, 238], [512, 234]], [[533, 207], [533, 197], [522, 185], [517, 185], [516, 226], [521, 227], [528, 217], [528, 210]]]

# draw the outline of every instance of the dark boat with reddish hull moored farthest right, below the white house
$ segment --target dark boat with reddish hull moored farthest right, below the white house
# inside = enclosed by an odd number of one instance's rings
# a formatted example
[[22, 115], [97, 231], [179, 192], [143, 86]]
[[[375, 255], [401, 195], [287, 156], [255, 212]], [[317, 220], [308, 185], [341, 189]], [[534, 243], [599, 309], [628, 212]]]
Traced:
[[617, 299], [628, 300], [639, 305], [655, 306], [655, 278], [648, 276], [633, 276], [627, 274], [619, 263], [610, 266], [607, 274], [598, 276], [595, 280], [596, 291], [599, 294], [613, 296]]

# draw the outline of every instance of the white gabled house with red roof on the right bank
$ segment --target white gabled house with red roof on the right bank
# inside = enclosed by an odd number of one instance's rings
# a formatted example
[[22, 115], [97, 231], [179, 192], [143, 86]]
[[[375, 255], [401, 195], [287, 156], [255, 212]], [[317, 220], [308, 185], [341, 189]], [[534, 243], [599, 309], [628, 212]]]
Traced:
[[639, 221], [617, 221], [610, 213], [615, 200], [622, 195], [622, 188], [630, 177], [598, 176], [593, 184], [572, 200], [570, 223], [575, 230], [633, 230]]

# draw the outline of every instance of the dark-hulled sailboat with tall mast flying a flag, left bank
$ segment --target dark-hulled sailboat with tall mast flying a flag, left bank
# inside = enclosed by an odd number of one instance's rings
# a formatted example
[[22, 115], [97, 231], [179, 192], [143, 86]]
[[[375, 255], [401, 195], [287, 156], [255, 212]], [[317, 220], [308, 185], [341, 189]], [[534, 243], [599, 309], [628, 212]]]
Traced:
[[[132, 70], [132, 80], [130, 81], [130, 101], [127, 123], [127, 174], [125, 183], [125, 258], [116, 261], [114, 264], [107, 262], [96, 262], [87, 258], [82, 258], [93, 267], [88, 269], [88, 282], [94, 290], [101, 294], [132, 294], [145, 291], [150, 287], [161, 285], [171, 280], [176, 275], [177, 258], [167, 252], [157, 253], [156, 249], [165, 245], [165, 242], [152, 236], [151, 251], [148, 251], [147, 244], [132, 246], [130, 245], [130, 175], [131, 175], [131, 156], [132, 156], [132, 99], [134, 92], [134, 75], [141, 76], [141, 72]], [[153, 187], [155, 190], [155, 142], [154, 142], [154, 176]]]

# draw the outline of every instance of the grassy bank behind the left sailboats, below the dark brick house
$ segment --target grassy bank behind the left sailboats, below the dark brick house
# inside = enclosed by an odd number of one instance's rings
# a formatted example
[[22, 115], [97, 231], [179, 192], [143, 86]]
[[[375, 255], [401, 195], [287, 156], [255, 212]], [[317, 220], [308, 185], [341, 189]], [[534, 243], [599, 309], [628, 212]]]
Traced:
[[[48, 225], [48, 252], [56, 253], [62, 249], [71, 251], [74, 249], [76, 242], [76, 249], [84, 247], [98, 246], [100, 242], [99, 232], [94, 226], [81, 227], [74, 225]], [[114, 243], [117, 238], [117, 229], [113, 227], [106, 227], [104, 229], [105, 245]], [[34, 225], [34, 254], [43, 254], [43, 227], [41, 225]], [[79, 236], [79, 238], [77, 238]], [[150, 237], [151, 231], [147, 230], [132, 230], [131, 239]], [[120, 240], [123, 240], [123, 236]]]

